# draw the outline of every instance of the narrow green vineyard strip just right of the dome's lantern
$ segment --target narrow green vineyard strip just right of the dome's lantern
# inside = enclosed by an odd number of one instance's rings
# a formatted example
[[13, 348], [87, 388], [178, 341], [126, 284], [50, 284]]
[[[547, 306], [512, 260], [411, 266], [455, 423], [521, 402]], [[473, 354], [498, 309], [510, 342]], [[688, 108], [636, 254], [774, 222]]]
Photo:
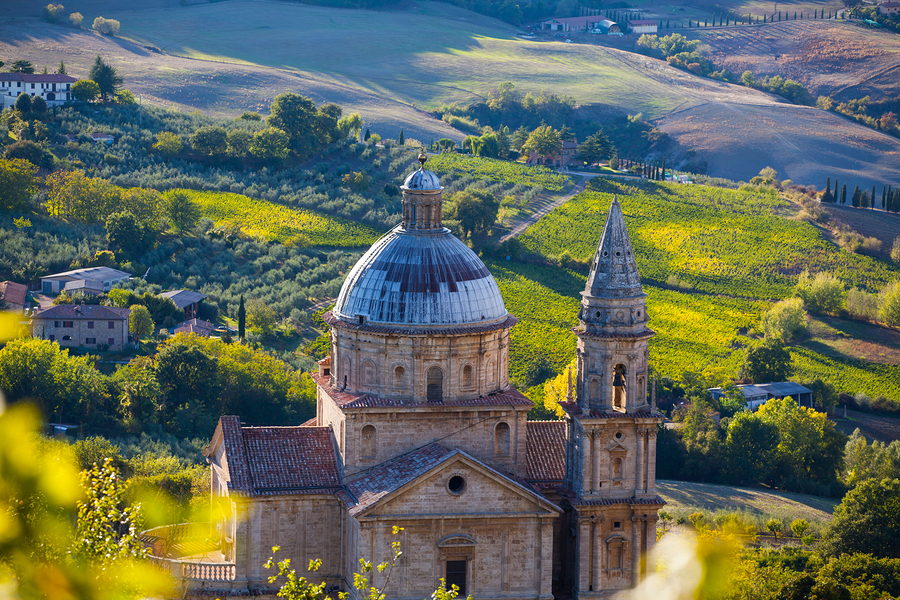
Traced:
[[540, 187], [552, 192], [562, 191], [569, 178], [553, 169], [542, 166], [526, 166], [493, 158], [480, 158], [455, 153], [433, 156], [428, 168], [435, 173], [464, 173], [479, 179], [492, 179], [502, 183]]

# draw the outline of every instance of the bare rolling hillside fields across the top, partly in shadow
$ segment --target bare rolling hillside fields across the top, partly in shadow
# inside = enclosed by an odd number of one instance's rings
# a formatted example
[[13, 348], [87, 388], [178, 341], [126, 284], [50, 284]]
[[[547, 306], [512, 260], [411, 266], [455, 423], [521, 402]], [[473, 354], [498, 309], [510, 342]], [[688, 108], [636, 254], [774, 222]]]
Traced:
[[[368, 11], [234, 0], [104, 12], [127, 39], [9, 18], [0, 23], [0, 56], [39, 66], [63, 59], [83, 74], [101, 54], [145, 102], [211, 114], [264, 110], [296, 91], [360, 112], [382, 136], [403, 128], [426, 142], [463, 134], [421, 108], [480, 100], [512, 81], [658, 119], [715, 176], [746, 180], [771, 165], [800, 183], [849, 170], [880, 183], [900, 169], [900, 142], [834, 115], [622, 50], [521, 40], [509, 25], [440, 2]], [[389, 33], [399, 22], [402, 35]]]

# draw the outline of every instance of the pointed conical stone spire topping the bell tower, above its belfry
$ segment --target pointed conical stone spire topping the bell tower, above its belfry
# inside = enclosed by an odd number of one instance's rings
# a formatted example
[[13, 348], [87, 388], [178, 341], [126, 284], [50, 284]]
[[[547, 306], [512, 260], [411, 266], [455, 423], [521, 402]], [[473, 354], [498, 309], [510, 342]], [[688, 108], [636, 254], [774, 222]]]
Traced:
[[594, 298], [634, 298], [644, 293], [618, 196], [609, 207], [584, 292]]

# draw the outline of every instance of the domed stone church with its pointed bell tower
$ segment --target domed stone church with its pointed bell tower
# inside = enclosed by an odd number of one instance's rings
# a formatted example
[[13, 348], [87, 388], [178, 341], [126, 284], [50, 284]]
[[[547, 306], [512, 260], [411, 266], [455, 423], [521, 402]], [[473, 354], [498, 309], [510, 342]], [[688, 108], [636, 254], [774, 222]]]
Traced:
[[394, 541], [391, 599], [428, 598], [441, 579], [462, 598], [601, 599], [641, 578], [664, 504], [662, 415], [648, 400], [653, 332], [618, 201], [582, 293], [565, 419], [529, 421], [533, 404], [508, 377], [516, 318], [442, 225], [443, 188], [420, 162], [401, 187], [402, 222], [324, 316], [315, 418], [220, 419], [206, 456], [233, 570], [198, 594], [274, 593], [263, 563], [276, 545], [298, 576], [351, 597], [360, 559], [389, 559]]

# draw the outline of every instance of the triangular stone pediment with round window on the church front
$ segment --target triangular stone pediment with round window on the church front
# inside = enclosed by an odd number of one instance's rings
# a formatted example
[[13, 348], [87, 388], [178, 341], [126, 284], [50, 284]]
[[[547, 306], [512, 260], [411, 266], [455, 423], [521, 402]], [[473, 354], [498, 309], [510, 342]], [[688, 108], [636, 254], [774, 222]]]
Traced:
[[496, 471], [459, 450], [377, 500], [350, 509], [356, 518], [493, 512], [550, 515], [560, 510], [526, 482]]

